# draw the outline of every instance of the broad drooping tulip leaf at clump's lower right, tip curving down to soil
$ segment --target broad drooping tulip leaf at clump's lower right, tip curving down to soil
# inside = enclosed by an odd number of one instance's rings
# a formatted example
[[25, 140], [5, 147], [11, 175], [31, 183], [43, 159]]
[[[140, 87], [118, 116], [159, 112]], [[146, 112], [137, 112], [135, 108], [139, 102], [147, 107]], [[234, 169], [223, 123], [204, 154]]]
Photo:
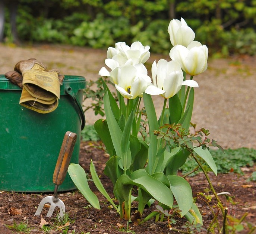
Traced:
[[183, 215], [187, 214], [187, 212], [189, 212], [192, 206], [192, 189], [189, 185], [189, 182], [180, 176], [168, 175], [167, 178], [170, 182], [170, 189], [173, 192], [179, 209], [181, 210], [182, 217]]

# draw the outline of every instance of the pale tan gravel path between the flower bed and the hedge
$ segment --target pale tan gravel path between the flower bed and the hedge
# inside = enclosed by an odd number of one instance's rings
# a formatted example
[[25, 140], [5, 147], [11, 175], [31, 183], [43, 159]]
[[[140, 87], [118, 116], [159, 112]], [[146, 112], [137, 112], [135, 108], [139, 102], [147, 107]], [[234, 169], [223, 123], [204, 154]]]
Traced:
[[[36, 58], [48, 69], [57, 68], [61, 74], [82, 75], [87, 80], [98, 78], [104, 66], [106, 50], [71, 46], [38, 45], [12, 47], [0, 44], [0, 74], [13, 70], [22, 59]], [[167, 56], [151, 55], [149, 64]], [[169, 59], [170, 60], [170, 59]], [[210, 130], [224, 148], [249, 147], [256, 149], [256, 57], [209, 59], [208, 69], [194, 79], [195, 105], [192, 122], [198, 128]], [[158, 113], [162, 98], [155, 98]], [[94, 124], [95, 117], [86, 111], [86, 124]]]

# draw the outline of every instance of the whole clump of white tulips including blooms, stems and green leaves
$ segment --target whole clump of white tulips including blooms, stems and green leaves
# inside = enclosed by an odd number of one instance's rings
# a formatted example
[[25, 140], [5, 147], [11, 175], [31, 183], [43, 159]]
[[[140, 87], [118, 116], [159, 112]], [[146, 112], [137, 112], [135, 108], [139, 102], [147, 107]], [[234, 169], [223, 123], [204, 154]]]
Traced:
[[[154, 132], [163, 128], [165, 124], [180, 124], [185, 130], [189, 129], [194, 101], [193, 88], [198, 87], [193, 76], [206, 70], [208, 49], [200, 42], [194, 41], [195, 33], [182, 18], [171, 20], [168, 33], [173, 45], [170, 50], [172, 60], [154, 61], [151, 68], [152, 79], [144, 65], [150, 57], [149, 46], [143, 46], [140, 42], [134, 42], [131, 46], [125, 42], [118, 42], [115, 48], [108, 48], [105, 59], [108, 69], [102, 67], [99, 75], [108, 77], [115, 85], [118, 103], [102, 79], [106, 119], [97, 120], [94, 126], [110, 155], [104, 173], [113, 182], [114, 195], [119, 207], [116, 207], [108, 196], [92, 162], [91, 175], [99, 191], [116, 208], [120, 216], [123, 217], [124, 214], [127, 220], [130, 219], [131, 202], [135, 199], [138, 201], [138, 211], [142, 214], [150, 199], [157, 200], [164, 207], [172, 208], [175, 198], [181, 216], [189, 218], [190, 221], [194, 219], [192, 222], [202, 223], [200, 212], [193, 203], [189, 183], [177, 176], [178, 168], [184, 164], [189, 152], [180, 147], [168, 151], [164, 140], [159, 139]], [[190, 79], [186, 80], [186, 74], [190, 75]], [[163, 97], [159, 119], [151, 95]], [[127, 101], [124, 101], [124, 98]], [[150, 143], [138, 137], [142, 118], [142, 98]], [[198, 148], [194, 151], [206, 162], [212, 162], [212, 159], [207, 160], [210, 157], [209, 152], [205, 154], [205, 150]], [[72, 170], [72, 178], [79, 178], [75, 175], [76, 171], [78, 169]], [[83, 187], [86, 186], [85, 183], [75, 183], [79, 184], [80, 191], [85, 191], [83, 195], [86, 199], [98, 208], [95, 195], [92, 195], [88, 187]], [[136, 198], [132, 196], [133, 186], [138, 188]]]

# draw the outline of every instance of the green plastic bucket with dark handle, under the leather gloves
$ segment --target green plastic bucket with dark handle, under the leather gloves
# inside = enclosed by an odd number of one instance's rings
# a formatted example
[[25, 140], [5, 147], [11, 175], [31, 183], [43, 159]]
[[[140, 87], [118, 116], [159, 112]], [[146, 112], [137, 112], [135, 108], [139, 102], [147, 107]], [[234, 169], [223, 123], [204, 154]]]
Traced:
[[[78, 134], [72, 163], [79, 163], [85, 78], [65, 75], [56, 110], [40, 114], [19, 104], [21, 89], [0, 75], [0, 190], [53, 192], [53, 172], [66, 131]], [[75, 189], [68, 173], [59, 191]]]

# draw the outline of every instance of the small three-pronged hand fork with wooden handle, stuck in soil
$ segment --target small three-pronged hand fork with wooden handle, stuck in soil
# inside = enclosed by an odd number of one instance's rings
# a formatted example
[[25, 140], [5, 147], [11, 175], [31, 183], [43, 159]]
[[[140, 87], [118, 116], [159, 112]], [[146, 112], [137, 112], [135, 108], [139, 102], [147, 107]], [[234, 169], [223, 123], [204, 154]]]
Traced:
[[70, 158], [73, 153], [76, 138], [77, 138], [77, 134], [72, 133], [71, 131], [67, 131], [65, 133], [64, 139], [60, 148], [59, 157], [53, 173], [53, 183], [55, 183], [54, 196], [46, 196], [45, 198], [43, 198], [40, 204], [38, 205], [35, 215], [39, 216], [41, 214], [42, 209], [44, 208], [44, 205], [46, 203], [50, 203], [51, 206], [46, 216], [51, 217], [55, 207], [59, 207], [60, 212], [58, 215], [58, 219], [63, 218], [64, 212], [65, 212], [65, 205], [63, 201], [61, 201], [58, 198], [57, 191], [58, 191], [59, 185], [61, 185], [61, 183], [64, 181], [66, 177], [67, 169], [69, 167]]

